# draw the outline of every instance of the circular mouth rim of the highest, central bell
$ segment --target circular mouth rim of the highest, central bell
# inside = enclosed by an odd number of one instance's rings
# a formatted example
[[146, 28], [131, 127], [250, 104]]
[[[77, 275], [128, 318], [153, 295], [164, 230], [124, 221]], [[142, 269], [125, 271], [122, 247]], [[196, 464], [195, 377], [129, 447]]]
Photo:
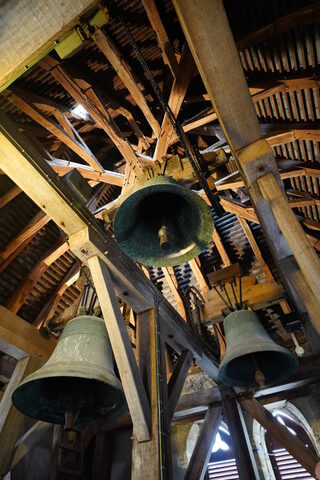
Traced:
[[[166, 179], [166, 181], [161, 184], [157, 183], [155, 180], [154, 183], [152, 181], [154, 179]], [[151, 182], [148, 184], [148, 182]], [[173, 252], [169, 255], [163, 255], [162, 257], [155, 257], [154, 261], [151, 260], [150, 257], [144, 256], [143, 251], [139, 252], [132, 257], [130, 255], [129, 249], [126, 248], [127, 239], [120, 239], [119, 236], [123, 236], [122, 232], [119, 232], [117, 226], [117, 219], [119, 216], [122, 215], [122, 212], [126, 212], [127, 216], [130, 216], [130, 211], [133, 208], [136, 208], [137, 204], [146, 198], [147, 196], [152, 195], [152, 191], [154, 193], [161, 193], [162, 190], [165, 190], [167, 193], [176, 194], [178, 197], [183, 198], [186, 203], [189, 205], [195, 205], [197, 209], [201, 212], [200, 216], [200, 225], [199, 231], [197, 233], [196, 241], [192, 242], [192, 244], [186, 246], [181, 251]], [[181, 192], [181, 194], [179, 194]], [[123, 199], [122, 203], [120, 204], [113, 222], [114, 228], [114, 235], [118, 242], [119, 247], [124, 251], [126, 255], [130, 258], [133, 258], [134, 261], [139, 262], [143, 265], [152, 265], [154, 267], [169, 267], [180, 265], [185, 263], [193, 258], [195, 258], [199, 253], [201, 253], [208, 243], [212, 239], [212, 234], [214, 231], [214, 220], [210, 211], [209, 206], [206, 204], [203, 198], [201, 198], [196, 192], [190, 190], [189, 188], [180, 185], [176, 180], [173, 180], [171, 177], [161, 176], [158, 175], [152, 179], [149, 179], [144, 186], [141, 186], [138, 190], [132, 192]]]

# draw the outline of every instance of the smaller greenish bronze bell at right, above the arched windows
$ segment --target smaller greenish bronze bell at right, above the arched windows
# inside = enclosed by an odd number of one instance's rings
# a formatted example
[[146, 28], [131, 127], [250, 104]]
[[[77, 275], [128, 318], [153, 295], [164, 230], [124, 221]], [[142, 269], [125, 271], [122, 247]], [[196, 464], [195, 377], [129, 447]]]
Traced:
[[262, 386], [281, 382], [298, 368], [297, 358], [271, 340], [254, 312], [232, 312], [223, 325], [227, 349], [219, 368], [221, 383]]

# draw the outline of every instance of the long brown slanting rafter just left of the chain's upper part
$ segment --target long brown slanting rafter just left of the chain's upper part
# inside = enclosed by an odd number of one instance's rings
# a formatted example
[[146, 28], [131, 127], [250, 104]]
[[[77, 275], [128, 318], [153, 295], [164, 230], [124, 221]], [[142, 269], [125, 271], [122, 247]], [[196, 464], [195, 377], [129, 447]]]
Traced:
[[160, 125], [153, 115], [146, 98], [142, 93], [140, 86], [138, 85], [138, 82], [135, 80], [128, 62], [121, 55], [111, 38], [102, 30], [97, 30], [92, 35], [92, 39], [99, 50], [101, 50], [101, 52], [104, 54], [106, 59], [111, 63], [121, 78], [123, 84], [129, 90], [137, 106], [141, 109], [142, 113], [146, 117], [154, 135], [158, 138], [160, 134]]

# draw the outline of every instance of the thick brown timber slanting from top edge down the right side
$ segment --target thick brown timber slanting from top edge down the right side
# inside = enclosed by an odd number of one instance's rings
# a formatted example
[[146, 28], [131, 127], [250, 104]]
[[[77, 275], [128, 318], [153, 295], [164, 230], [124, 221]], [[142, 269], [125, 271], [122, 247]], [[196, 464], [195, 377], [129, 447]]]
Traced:
[[[174, 5], [283, 283], [297, 311], [304, 313], [307, 310], [319, 333], [320, 303], [314, 282], [315, 277], [318, 282], [320, 280], [320, 264], [318, 261], [313, 264], [312, 279], [305, 269], [301, 270], [299, 248], [291, 251], [281, 233], [285, 229], [283, 218], [286, 213], [288, 218], [292, 213], [290, 206], [288, 202], [282, 203], [283, 216], [277, 215], [276, 219], [275, 205], [266, 198], [258, 184], [260, 177], [272, 174], [280, 190], [281, 179], [273, 152], [262, 138], [223, 2], [174, 0]], [[292, 227], [299, 227], [297, 220]], [[303, 256], [308, 263], [314, 262], [310, 250], [304, 250]]]

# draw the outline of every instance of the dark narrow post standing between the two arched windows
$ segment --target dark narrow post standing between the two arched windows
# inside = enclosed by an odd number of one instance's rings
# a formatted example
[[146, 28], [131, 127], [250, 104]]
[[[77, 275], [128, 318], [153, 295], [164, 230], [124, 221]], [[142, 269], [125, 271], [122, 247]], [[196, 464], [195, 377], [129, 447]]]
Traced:
[[223, 400], [223, 410], [230, 431], [240, 480], [259, 479], [257, 465], [240, 405], [234, 399]]

